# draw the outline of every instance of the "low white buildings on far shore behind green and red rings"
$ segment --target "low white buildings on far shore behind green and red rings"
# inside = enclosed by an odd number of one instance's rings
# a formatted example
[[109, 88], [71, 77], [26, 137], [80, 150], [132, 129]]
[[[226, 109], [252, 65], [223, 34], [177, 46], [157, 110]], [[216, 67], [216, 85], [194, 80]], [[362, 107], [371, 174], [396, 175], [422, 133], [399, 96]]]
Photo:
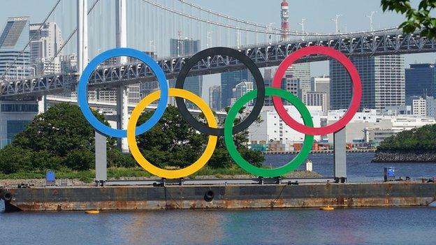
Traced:
[[[292, 105], [286, 105], [286, 110], [293, 119], [303, 122], [300, 114]], [[333, 124], [343, 117], [346, 110], [330, 110], [328, 116], [322, 115], [321, 107], [308, 107], [314, 126], [326, 126]], [[303, 142], [304, 134], [293, 130], [278, 116], [274, 107], [266, 106], [261, 112], [260, 124], [252, 124], [249, 127], [249, 141], [252, 144], [268, 144], [268, 142], [279, 141], [285, 144], [291, 142]], [[386, 115], [380, 114], [378, 110], [363, 110], [357, 112], [353, 119], [347, 124], [347, 143], [354, 144], [379, 144], [385, 138], [395, 135], [401, 131], [419, 128], [428, 124], [436, 124], [434, 118], [417, 117], [411, 114]], [[333, 134], [315, 136], [317, 142], [328, 140], [333, 144]]]

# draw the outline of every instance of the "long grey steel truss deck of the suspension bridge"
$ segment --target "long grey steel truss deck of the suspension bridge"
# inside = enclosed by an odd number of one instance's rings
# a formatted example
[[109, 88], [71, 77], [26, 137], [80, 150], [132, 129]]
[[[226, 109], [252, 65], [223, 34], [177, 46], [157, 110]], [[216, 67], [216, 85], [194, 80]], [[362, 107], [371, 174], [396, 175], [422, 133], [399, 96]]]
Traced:
[[[82, 1], [82, 0], [78, 0]], [[122, 19], [120, 19], [122, 20]], [[125, 32], [124, 32], [125, 33]], [[119, 35], [123, 36], [122, 32]], [[122, 40], [120, 38], [120, 40]], [[121, 45], [121, 43], [120, 43]], [[335, 35], [328, 37], [307, 38], [305, 40], [289, 40], [280, 43], [261, 43], [240, 47], [238, 50], [247, 54], [257, 66], [278, 66], [283, 59], [303, 47], [324, 46], [332, 47], [343, 52], [349, 57], [370, 57], [389, 54], [413, 54], [436, 52], [436, 40], [414, 34], [402, 34], [401, 31], [386, 31], [386, 33], [362, 33], [352, 35]], [[185, 61], [184, 57], [167, 57], [159, 59], [157, 63], [166, 73], [167, 79], [177, 76]], [[226, 58], [226, 57], [224, 57]], [[232, 70], [242, 70], [245, 66], [235, 59], [224, 59], [220, 55], [210, 57], [198, 62], [191, 69], [191, 76], [209, 75]], [[297, 62], [322, 61], [328, 57], [311, 55]], [[147, 82], [156, 80], [154, 73], [143, 63], [117, 65], [97, 69], [89, 79], [88, 87], [119, 87], [121, 84], [136, 84], [139, 81]], [[56, 94], [71, 89], [78, 81], [78, 74], [54, 74], [43, 77], [32, 77], [16, 82], [0, 84], [1, 97], [29, 96], [42, 94]]]

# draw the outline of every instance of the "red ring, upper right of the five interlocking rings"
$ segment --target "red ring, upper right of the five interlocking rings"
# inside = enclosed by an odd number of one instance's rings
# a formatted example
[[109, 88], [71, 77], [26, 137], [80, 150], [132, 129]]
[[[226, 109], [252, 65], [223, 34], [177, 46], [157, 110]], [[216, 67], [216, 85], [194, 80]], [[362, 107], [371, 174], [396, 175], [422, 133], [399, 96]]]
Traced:
[[346, 126], [349, 123], [349, 121], [353, 119], [354, 114], [356, 114], [356, 112], [358, 111], [362, 99], [361, 77], [358, 75], [356, 66], [354, 66], [351, 60], [348, 59], [344, 54], [342, 54], [342, 52], [334, 50], [331, 47], [311, 46], [311, 47], [304, 47], [300, 50], [297, 50], [296, 52], [293, 52], [288, 57], [286, 57], [284, 61], [282, 61], [282, 64], [280, 64], [279, 68], [277, 68], [277, 71], [274, 75], [273, 87], [278, 89], [281, 88], [282, 78], [286, 70], [289, 68], [289, 66], [291, 66], [293, 62], [295, 62], [296, 60], [310, 54], [324, 54], [329, 57], [332, 57], [333, 59], [339, 61], [340, 64], [342, 64], [342, 66], [344, 66], [347, 69], [351, 77], [351, 82], [353, 82], [353, 98], [351, 98], [351, 105], [347, 110], [347, 112], [344, 114], [344, 116], [334, 124], [324, 126], [321, 128], [312, 128], [300, 124], [298, 123], [298, 121], [292, 119], [291, 116], [289, 116], [289, 114], [286, 112], [286, 109], [284, 109], [282, 98], [273, 96], [273, 103], [274, 103], [275, 110], [277, 110], [277, 113], [279, 114], [279, 117], [282, 118], [282, 120], [288, 126], [295, 129], [296, 131], [308, 135], [328, 135], [329, 133], [334, 133], [344, 128], [344, 126]]

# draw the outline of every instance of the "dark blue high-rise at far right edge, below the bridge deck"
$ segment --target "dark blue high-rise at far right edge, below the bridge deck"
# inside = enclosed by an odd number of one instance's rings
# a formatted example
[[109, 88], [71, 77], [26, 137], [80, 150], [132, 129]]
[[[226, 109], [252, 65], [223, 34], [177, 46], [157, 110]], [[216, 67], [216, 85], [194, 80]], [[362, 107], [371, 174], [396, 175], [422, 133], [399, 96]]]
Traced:
[[435, 64], [411, 64], [405, 70], [406, 100], [412, 96], [436, 96]]

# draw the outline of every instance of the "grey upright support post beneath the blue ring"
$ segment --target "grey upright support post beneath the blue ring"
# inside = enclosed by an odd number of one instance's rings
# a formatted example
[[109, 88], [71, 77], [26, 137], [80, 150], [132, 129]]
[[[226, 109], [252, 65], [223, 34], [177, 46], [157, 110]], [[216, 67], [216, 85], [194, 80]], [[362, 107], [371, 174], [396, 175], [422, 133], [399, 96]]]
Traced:
[[108, 180], [108, 164], [106, 162], [106, 136], [95, 132], [96, 183], [104, 186]]

